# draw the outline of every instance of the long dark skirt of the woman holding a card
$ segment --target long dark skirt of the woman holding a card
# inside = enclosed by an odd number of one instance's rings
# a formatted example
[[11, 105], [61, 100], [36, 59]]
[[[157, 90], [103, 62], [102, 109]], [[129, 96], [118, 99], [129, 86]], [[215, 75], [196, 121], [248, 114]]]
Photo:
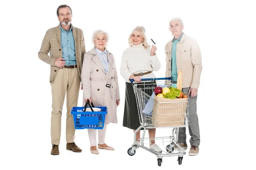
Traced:
[[[153, 83], [155, 84], [155, 82]], [[152, 84], [152, 82], [146, 82], [145, 84]], [[123, 126], [136, 130], [138, 127], [140, 127], [140, 117], [138, 113], [136, 96], [134, 94], [133, 85], [131, 83], [126, 82], [125, 86], [125, 109]], [[144, 83], [138, 83], [137, 87], [140, 88], [140, 86], [141, 88], [143, 88]], [[146, 94], [151, 96], [154, 90], [147, 90], [145, 92]], [[143, 130], [143, 128], [141, 128], [140, 130]]]

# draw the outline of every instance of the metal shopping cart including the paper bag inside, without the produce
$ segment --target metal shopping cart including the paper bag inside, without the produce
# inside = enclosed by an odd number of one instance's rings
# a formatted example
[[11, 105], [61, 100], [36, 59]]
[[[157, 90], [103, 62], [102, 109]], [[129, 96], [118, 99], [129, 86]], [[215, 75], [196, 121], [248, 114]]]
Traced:
[[[164, 156], [178, 156], [178, 164], [182, 163], [183, 156], [186, 151], [178, 144], [179, 127], [188, 127], [188, 100], [176, 102], [159, 102], [154, 97], [154, 88], [157, 86], [170, 87], [173, 83], [171, 77], [167, 78], [154, 78], [154, 79], [141, 79], [142, 84], [137, 84], [134, 79], [131, 83], [134, 88], [134, 93], [137, 100], [137, 107], [140, 117], [140, 127], [134, 132], [134, 144], [128, 149], [128, 155], [133, 156], [136, 149], [141, 147], [157, 156], [158, 166], [162, 164]], [[152, 96], [148, 95], [152, 94]], [[186, 100], [186, 101], [184, 101]], [[145, 138], [145, 130], [151, 128], [172, 128], [172, 135], [166, 137]], [[136, 133], [141, 129], [143, 130], [142, 138], [136, 141]], [[176, 130], [176, 136], [175, 136]], [[165, 150], [162, 152], [155, 152], [154, 150], [145, 147], [145, 143], [151, 143], [151, 140], [161, 141]], [[177, 149], [175, 149], [177, 146]]]

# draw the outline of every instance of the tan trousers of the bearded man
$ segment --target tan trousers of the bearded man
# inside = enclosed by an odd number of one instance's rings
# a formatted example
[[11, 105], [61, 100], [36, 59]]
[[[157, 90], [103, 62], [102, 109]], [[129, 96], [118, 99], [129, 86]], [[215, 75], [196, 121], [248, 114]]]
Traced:
[[52, 86], [52, 117], [51, 139], [52, 144], [60, 144], [61, 139], [61, 115], [64, 99], [67, 93], [67, 119], [66, 141], [74, 142], [75, 127], [71, 109], [77, 106], [81, 79], [77, 68], [61, 68], [55, 75]]

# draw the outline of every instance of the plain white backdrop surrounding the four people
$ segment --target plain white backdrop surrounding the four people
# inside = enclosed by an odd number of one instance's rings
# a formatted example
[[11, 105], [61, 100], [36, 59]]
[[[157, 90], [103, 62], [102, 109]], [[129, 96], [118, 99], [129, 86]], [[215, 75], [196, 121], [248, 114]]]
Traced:
[[[1, 3], [1, 119], [0, 169], [216, 169], [244, 168], [255, 157], [255, 9], [253, 1], [183, 0], [43, 0]], [[76, 130], [76, 144], [82, 153], [66, 150], [64, 103], [60, 155], [50, 155], [51, 87], [50, 66], [38, 58], [45, 32], [58, 25], [56, 8], [73, 9], [73, 26], [84, 31], [86, 51], [93, 48], [91, 36], [102, 29], [110, 35], [108, 50], [119, 69], [128, 36], [144, 26], [148, 39], [156, 42], [165, 76], [165, 44], [172, 39], [168, 29], [173, 17], [183, 19], [188, 36], [198, 40], [203, 71], [198, 89], [198, 117], [201, 133], [198, 156], [186, 154], [182, 165], [177, 157], [157, 157], [143, 150], [128, 156], [132, 130], [122, 127], [125, 81], [119, 74], [121, 94], [118, 124], [110, 124], [106, 143], [114, 151], [90, 153], [87, 130]], [[82, 91], [79, 106], [82, 104]], [[170, 135], [157, 129], [157, 136]], [[147, 133], [148, 135], [148, 133]], [[187, 133], [187, 142], [189, 143]], [[158, 142], [161, 145], [160, 142]], [[187, 150], [188, 151], [188, 150]]]

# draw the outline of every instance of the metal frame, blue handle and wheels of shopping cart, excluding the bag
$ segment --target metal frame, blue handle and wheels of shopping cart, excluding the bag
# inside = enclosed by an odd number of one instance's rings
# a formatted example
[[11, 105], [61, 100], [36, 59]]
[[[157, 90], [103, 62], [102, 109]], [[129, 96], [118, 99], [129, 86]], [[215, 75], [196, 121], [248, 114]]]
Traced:
[[[172, 78], [171, 77], [166, 77], [166, 78], [151, 78], [151, 79], [141, 79], [142, 82], [144, 82], [144, 91], [146, 88], [152, 88], [151, 90], [154, 90], [155, 85], [160, 84], [160, 83], [155, 83], [156, 82], [160, 82], [161, 80], [164, 80], [163, 82], [161, 82], [164, 85], [168, 85], [168, 87], [170, 87], [173, 84]], [[139, 117], [140, 117], [140, 127], [137, 128], [137, 130], [135, 130], [134, 132], [134, 144], [132, 144], [132, 146], [128, 149], [128, 155], [133, 156], [136, 153], [136, 149], [138, 147], [141, 147], [151, 153], [153, 153], [154, 155], [157, 156], [157, 163], [159, 166], [161, 166], [162, 164], [162, 159], [165, 156], [178, 156], [178, 164], [182, 163], [182, 159], [183, 156], [186, 154], [186, 151], [180, 147], [180, 145], [178, 144], [177, 140], [178, 140], [178, 134], [179, 134], [179, 127], [188, 127], [189, 126], [189, 105], [187, 102], [186, 105], [186, 113], [185, 113], [185, 122], [184, 125], [175, 125], [175, 126], [167, 126], [167, 128], [172, 128], [172, 135], [171, 136], [166, 136], [166, 137], [155, 137], [155, 138], [145, 138], [145, 131], [147, 129], [152, 129], [152, 128], [161, 128], [161, 126], [155, 126], [155, 125], [151, 125], [150, 123], [148, 123], [147, 119], [145, 118], [144, 113], [142, 113], [142, 108], [143, 108], [143, 104], [141, 104], [141, 100], [139, 99], [141, 96], [139, 96], [139, 93], [136, 93], [136, 91], [138, 91], [140, 88], [137, 88], [137, 82], [134, 81], [134, 79], [131, 79], [131, 84], [133, 85], [134, 88], [134, 94], [136, 96], [136, 102], [137, 102], [137, 108], [138, 108], [138, 113], [139, 113]], [[145, 82], [152, 82], [152, 84], [145, 84]], [[149, 85], [154, 85], [154, 86], [149, 86]], [[146, 88], [145, 88], [146, 87]], [[148, 99], [153, 99], [151, 96], [149, 96], [148, 94], [146, 94], [145, 92], [141, 91], [140, 89], [140, 93], [144, 93], [143, 95], [145, 95]], [[155, 100], [155, 99], [153, 99]], [[154, 101], [156, 102], [156, 101]], [[157, 102], [157, 103], [168, 103], [168, 102]], [[144, 104], [145, 107], [145, 104]], [[144, 116], [144, 117], [143, 117]], [[163, 126], [166, 127], [166, 126]], [[140, 138], [140, 142], [136, 141], [136, 134], [137, 132], [141, 129], [144, 128], [143, 130], [143, 135], [142, 138]], [[176, 136], [175, 136], [175, 130], [176, 130]], [[151, 143], [151, 140], [162, 140], [163, 145], [165, 143], [168, 143], [168, 145], [166, 146], [166, 152], [163, 150], [161, 153], [159, 152], [155, 152], [154, 150], [146, 147], [145, 141], [149, 141], [149, 143]], [[174, 149], [175, 145], [178, 147], [178, 149]]]

